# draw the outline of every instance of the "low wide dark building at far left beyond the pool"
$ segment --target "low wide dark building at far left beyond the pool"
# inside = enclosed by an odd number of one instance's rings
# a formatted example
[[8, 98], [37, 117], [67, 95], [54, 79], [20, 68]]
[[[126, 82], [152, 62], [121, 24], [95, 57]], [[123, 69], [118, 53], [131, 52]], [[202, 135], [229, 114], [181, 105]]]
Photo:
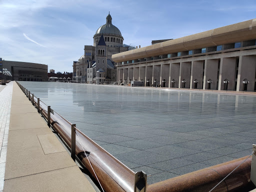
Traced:
[[2, 68], [11, 72], [11, 80], [47, 81], [48, 65], [2, 60]]

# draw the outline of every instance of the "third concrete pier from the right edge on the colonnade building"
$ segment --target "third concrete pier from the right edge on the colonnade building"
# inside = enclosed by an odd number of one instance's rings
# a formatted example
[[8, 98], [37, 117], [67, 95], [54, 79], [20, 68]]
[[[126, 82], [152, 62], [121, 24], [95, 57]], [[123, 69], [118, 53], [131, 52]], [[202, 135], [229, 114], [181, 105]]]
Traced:
[[[217, 89], [218, 59], [206, 59], [204, 63], [204, 75], [202, 89]], [[211, 79], [210, 87], [208, 80]]]

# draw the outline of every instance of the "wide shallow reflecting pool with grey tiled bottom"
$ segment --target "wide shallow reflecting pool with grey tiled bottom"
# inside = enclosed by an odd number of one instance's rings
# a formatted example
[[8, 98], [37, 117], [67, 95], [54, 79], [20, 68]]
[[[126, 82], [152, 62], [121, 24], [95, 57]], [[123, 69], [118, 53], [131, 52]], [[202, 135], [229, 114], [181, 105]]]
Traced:
[[251, 153], [256, 96], [19, 81], [154, 183]]

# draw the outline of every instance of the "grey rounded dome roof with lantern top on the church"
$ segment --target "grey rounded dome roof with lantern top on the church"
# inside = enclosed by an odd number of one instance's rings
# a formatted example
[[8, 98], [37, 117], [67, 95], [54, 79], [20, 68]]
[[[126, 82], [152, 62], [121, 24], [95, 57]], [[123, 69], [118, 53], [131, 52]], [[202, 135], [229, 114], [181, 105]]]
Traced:
[[120, 30], [112, 24], [112, 17], [108, 13], [106, 16], [106, 23], [101, 25], [95, 32], [94, 35], [98, 34], [115, 34], [118, 36], [122, 36]]

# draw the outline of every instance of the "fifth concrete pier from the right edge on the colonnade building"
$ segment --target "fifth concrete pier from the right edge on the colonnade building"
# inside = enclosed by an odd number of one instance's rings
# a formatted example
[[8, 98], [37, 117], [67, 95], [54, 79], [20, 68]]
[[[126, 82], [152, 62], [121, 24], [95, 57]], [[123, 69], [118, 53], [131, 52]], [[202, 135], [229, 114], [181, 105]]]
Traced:
[[181, 62], [180, 63], [180, 70], [179, 70], [179, 88], [183, 88], [183, 83], [181, 82], [185, 79], [185, 87], [189, 88], [190, 86], [190, 71], [191, 69], [191, 62]]

